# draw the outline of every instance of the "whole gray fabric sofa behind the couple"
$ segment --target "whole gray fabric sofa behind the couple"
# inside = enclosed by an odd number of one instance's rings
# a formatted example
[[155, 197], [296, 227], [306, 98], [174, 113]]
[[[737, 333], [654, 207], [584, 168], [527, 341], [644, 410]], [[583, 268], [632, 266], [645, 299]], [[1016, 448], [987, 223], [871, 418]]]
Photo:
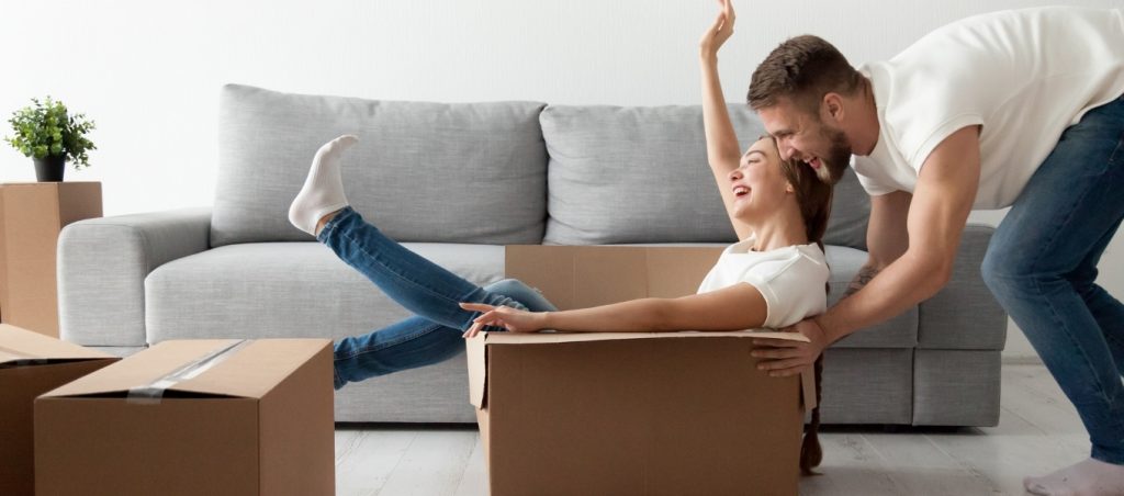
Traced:
[[[763, 134], [729, 107], [740, 139]], [[60, 237], [62, 336], [128, 354], [170, 339], [338, 339], [407, 316], [311, 236], [289, 201], [324, 142], [356, 133], [346, 192], [383, 232], [477, 283], [505, 244], [734, 241], [699, 107], [419, 103], [221, 90], [215, 204], [82, 220]], [[826, 237], [834, 301], [865, 261], [869, 202], [851, 173]], [[827, 423], [995, 425], [1006, 317], [969, 226], [952, 282], [826, 352]], [[463, 359], [351, 385], [339, 422], [474, 422]]]

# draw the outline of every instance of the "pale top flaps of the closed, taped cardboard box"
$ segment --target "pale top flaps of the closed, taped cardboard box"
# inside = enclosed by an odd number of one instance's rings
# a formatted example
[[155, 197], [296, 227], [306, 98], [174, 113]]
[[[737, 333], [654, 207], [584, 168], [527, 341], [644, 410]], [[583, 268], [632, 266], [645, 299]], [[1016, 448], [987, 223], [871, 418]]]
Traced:
[[165, 341], [44, 396], [124, 397], [135, 388], [157, 386], [167, 391], [261, 398], [330, 344], [328, 340]]

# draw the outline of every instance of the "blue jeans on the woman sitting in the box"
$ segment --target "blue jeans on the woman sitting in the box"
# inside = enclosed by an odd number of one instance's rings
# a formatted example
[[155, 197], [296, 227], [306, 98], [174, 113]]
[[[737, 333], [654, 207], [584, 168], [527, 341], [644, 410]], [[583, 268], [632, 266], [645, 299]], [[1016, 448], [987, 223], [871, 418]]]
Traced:
[[[407, 250], [363, 220], [351, 207], [332, 218], [317, 240], [366, 276], [415, 316], [335, 345], [335, 388], [347, 382], [429, 366], [464, 350], [461, 334], [480, 315], [462, 301], [556, 310], [535, 289], [515, 279], [481, 288]], [[501, 328], [492, 328], [498, 331]]]

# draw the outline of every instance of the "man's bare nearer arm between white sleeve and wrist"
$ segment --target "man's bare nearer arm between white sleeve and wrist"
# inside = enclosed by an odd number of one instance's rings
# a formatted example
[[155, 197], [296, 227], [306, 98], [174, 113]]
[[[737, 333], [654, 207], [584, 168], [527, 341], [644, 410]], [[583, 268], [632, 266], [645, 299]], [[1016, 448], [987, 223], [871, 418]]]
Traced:
[[933, 150], [909, 202], [905, 252], [861, 290], [816, 318], [828, 343], [894, 317], [948, 283], [979, 178], [977, 126], [953, 133]]

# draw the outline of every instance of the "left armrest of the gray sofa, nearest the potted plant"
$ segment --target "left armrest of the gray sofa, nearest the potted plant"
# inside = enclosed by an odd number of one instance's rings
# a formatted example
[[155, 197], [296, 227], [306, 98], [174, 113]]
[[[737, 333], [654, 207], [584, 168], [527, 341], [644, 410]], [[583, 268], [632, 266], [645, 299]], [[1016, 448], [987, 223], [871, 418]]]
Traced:
[[58, 235], [58, 324], [66, 341], [143, 346], [144, 280], [210, 247], [211, 208], [80, 220]]

